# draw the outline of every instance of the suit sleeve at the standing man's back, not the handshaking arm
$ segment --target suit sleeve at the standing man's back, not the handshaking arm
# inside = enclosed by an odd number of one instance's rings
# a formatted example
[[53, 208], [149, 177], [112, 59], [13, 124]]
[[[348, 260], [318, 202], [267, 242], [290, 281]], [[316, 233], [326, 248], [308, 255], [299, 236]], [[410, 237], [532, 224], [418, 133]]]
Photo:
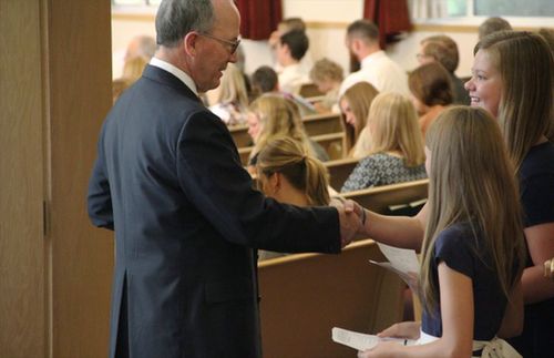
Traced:
[[106, 176], [102, 134], [98, 145], [98, 157], [89, 182], [88, 209], [94, 226], [113, 229], [112, 196]]

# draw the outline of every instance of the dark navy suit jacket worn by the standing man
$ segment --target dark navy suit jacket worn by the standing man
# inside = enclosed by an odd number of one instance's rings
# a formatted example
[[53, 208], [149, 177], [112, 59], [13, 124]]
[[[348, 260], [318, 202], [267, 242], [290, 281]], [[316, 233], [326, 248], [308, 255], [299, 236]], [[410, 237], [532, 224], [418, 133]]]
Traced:
[[260, 357], [255, 249], [340, 250], [335, 208], [254, 191], [224, 123], [155, 67], [102, 126], [88, 204], [115, 231], [110, 357], [126, 336], [131, 357]]

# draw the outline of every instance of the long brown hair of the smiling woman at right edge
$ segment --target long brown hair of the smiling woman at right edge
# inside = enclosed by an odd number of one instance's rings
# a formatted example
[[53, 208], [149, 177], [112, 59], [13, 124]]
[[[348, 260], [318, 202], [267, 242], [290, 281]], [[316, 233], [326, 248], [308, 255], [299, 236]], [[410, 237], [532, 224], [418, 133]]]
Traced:
[[526, 31], [500, 31], [473, 50], [485, 51], [499, 69], [502, 93], [499, 115], [510, 157], [519, 171], [530, 149], [553, 125], [554, 60], [546, 41]]

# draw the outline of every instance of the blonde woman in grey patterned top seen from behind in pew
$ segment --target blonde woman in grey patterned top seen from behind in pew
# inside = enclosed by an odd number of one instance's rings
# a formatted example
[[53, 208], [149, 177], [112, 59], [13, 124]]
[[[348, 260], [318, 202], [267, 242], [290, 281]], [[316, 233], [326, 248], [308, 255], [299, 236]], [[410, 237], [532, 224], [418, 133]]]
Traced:
[[341, 192], [427, 177], [423, 140], [413, 104], [399, 93], [381, 93], [368, 115], [371, 146], [355, 167]]

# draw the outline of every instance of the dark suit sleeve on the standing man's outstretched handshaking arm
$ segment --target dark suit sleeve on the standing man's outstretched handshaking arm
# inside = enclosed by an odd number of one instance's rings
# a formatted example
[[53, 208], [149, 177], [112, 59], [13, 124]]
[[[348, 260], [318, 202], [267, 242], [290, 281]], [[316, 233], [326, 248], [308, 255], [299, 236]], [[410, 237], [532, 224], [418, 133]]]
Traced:
[[334, 207], [300, 208], [253, 190], [230, 134], [206, 111], [184, 122], [176, 147], [183, 192], [226, 239], [277, 252], [340, 252]]

